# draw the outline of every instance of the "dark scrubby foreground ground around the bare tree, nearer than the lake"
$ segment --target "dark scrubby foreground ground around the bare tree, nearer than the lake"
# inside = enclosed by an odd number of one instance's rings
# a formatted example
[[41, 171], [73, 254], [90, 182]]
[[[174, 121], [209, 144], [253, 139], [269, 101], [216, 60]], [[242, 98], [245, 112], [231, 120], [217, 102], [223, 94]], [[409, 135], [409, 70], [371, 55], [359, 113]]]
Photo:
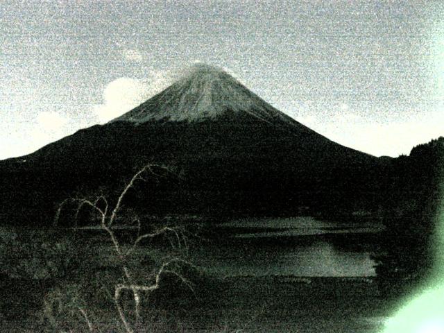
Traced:
[[[7, 237], [14, 239], [3, 248], [11, 254], [2, 263], [3, 332], [126, 332], [114, 300], [121, 262], [106, 234], [2, 234], [3, 244]], [[164, 241], [141, 244], [130, 269], [135, 279], [151, 284], [166, 257], [191, 261], [202, 241], [189, 239], [188, 254]], [[377, 332], [387, 309], [368, 278], [224, 278], [205, 267], [174, 269], [180, 278], [165, 274], [158, 289], [142, 296], [135, 332]], [[131, 291], [120, 302], [134, 324]]]

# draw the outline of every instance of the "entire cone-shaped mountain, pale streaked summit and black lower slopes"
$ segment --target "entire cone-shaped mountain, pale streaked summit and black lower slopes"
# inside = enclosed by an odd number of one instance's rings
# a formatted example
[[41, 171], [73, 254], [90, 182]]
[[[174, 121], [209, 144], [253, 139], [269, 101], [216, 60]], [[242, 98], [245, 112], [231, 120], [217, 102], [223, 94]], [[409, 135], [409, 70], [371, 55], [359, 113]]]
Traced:
[[200, 65], [103, 126], [0, 162], [3, 221], [49, 223], [63, 198], [117, 189], [147, 163], [183, 178], [150, 183], [137, 199], [149, 212], [331, 215], [376, 210], [391, 160], [336, 144]]

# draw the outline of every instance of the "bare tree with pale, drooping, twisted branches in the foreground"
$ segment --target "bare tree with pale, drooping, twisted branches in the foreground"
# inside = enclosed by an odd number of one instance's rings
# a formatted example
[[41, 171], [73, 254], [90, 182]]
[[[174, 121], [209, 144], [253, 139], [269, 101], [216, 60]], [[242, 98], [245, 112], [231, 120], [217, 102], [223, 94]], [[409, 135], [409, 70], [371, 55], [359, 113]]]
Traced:
[[[187, 264], [194, 267], [194, 265], [192, 265], [190, 262], [187, 262], [183, 259], [180, 259], [178, 257], [173, 257], [163, 262], [160, 268], [157, 269], [151, 283], [137, 282], [133, 276], [133, 272], [131, 271], [130, 266], [128, 265], [128, 256], [135, 251], [137, 245], [139, 245], [140, 242], [142, 242], [144, 239], [153, 239], [154, 237], [158, 237], [161, 235], [171, 234], [176, 239], [176, 244], [178, 245], [179, 248], [181, 246], [184, 246], [184, 244], [186, 246], [187, 240], [185, 237], [185, 230], [182, 230], [181, 228], [171, 228], [170, 226], [164, 226], [163, 228], [159, 228], [157, 230], [154, 230], [153, 232], [143, 233], [142, 223], [139, 219], [139, 216], [134, 214], [132, 216], [131, 222], [137, 223], [137, 236], [133, 240], [132, 244], [130, 244], [129, 246], [128, 245], [123, 246], [123, 244], [121, 244], [121, 242], [116, 237], [116, 234], [114, 232], [115, 229], [113, 227], [116, 224], [119, 212], [121, 212], [121, 207], [123, 204], [123, 200], [126, 197], [126, 194], [128, 194], [128, 191], [135, 186], [135, 182], [139, 180], [145, 180], [144, 175], [146, 175], [146, 173], [149, 173], [149, 175], [151, 176], [159, 176], [157, 173], [155, 173], [154, 168], [162, 168], [168, 171], [168, 169], [157, 166], [155, 164], [146, 165], [145, 167], [137, 171], [137, 173], [135, 173], [133, 178], [131, 178], [130, 182], [128, 182], [126, 187], [123, 188], [123, 190], [119, 194], [119, 197], [117, 198], [116, 204], [113, 207], [110, 206], [108, 199], [103, 195], [97, 196], [94, 200], [88, 200], [87, 198], [68, 198], [62, 201], [62, 203], [59, 205], [56, 217], [54, 219], [54, 225], [58, 225], [62, 208], [65, 206], [65, 204], [69, 202], [76, 204], [76, 212], [74, 216], [76, 223], [80, 210], [82, 210], [83, 207], [85, 206], [89, 207], [89, 209], [92, 210], [92, 212], [94, 212], [96, 216], [99, 216], [100, 220], [99, 228], [107, 232], [108, 236], [112, 241], [114, 253], [119, 258], [119, 262], [121, 262], [121, 269], [123, 272], [124, 282], [115, 284], [114, 295], [112, 297], [114, 299], [114, 303], [116, 305], [117, 312], [119, 314], [119, 319], [123, 324], [126, 333], [134, 333], [135, 332], [134, 327], [137, 327], [137, 325], [139, 325], [141, 317], [140, 307], [141, 307], [142, 295], [146, 293], [151, 293], [152, 291], [159, 289], [160, 282], [164, 277], [164, 275], [167, 274], [176, 275], [176, 277], [194, 293], [194, 289], [191, 285], [191, 282], [174, 269], [177, 268], [178, 265], [180, 264]], [[126, 312], [121, 306], [121, 294], [123, 291], [130, 291], [133, 295], [134, 311], [135, 311], [134, 323], [130, 323], [130, 321], [127, 318]], [[78, 307], [78, 311], [80, 311], [80, 316], [85, 319], [89, 331], [94, 332], [94, 324], [89, 320], [87, 309], [85, 309], [85, 307]]]

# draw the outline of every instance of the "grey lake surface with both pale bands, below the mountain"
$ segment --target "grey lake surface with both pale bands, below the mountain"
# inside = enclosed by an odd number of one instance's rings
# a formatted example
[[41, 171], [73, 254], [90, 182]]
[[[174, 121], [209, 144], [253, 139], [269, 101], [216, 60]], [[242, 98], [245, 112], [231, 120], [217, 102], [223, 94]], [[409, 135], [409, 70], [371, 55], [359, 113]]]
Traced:
[[[375, 275], [370, 251], [336, 246], [334, 235], [371, 233], [380, 230], [370, 225], [347, 225], [316, 221], [312, 218], [248, 219], [221, 223], [235, 230], [232, 243], [203, 248], [196, 261], [219, 276], [299, 276], [368, 277]], [[266, 231], [264, 231], [266, 229]], [[331, 237], [316, 235], [331, 234]], [[300, 241], [307, 236], [312, 241]], [[287, 241], [280, 243], [286, 237]], [[293, 237], [288, 241], [289, 237]], [[241, 238], [246, 239], [243, 241]], [[267, 239], [268, 238], [268, 239]], [[262, 242], [262, 239], [264, 240]], [[270, 244], [269, 239], [273, 239]], [[343, 237], [347, 241], [346, 237]], [[255, 240], [253, 242], [248, 240]], [[350, 241], [352, 241], [350, 239]], [[356, 239], [353, 240], [356, 242]], [[347, 245], [347, 244], [344, 244]]]

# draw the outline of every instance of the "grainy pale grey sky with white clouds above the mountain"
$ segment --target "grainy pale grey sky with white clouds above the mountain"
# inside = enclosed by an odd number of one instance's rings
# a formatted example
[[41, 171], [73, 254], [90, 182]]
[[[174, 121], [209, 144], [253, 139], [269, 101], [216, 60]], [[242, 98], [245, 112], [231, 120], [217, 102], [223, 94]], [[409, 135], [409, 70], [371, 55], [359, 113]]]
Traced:
[[0, 1], [0, 159], [129, 111], [195, 62], [344, 146], [444, 135], [444, 1]]

